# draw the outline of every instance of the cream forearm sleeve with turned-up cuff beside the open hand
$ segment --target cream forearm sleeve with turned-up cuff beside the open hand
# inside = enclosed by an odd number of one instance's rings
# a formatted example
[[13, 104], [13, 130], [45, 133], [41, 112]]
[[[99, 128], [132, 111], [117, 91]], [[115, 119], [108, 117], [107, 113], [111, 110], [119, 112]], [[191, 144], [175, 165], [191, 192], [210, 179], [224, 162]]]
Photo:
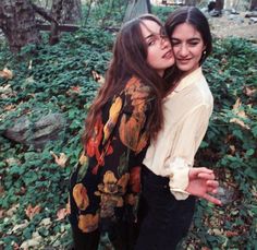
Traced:
[[170, 191], [176, 200], [185, 200], [189, 193], [185, 191], [189, 183], [188, 171], [191, 166], [181, 157], [170, 164]]

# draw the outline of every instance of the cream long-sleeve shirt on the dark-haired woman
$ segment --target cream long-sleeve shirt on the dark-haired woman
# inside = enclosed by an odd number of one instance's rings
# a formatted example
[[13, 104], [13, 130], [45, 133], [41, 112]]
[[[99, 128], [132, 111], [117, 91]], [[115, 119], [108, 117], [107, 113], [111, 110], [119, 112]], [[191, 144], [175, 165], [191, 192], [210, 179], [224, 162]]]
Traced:
[[188, 193], [188, 170], [206, 133], [213, 97], [201, 68], [186, 75], [163, 100], [164, 122], [157, 140], [150, 143], [144, 165], [158, 176], [170, 177], [176, 200]]

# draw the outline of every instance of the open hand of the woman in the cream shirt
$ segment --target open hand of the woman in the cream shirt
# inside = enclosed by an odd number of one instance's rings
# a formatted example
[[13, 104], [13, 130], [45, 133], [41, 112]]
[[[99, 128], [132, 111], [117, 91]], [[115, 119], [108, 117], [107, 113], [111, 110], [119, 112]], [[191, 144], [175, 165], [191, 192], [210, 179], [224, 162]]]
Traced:
[[192, 195], [203, 198], [211, 203], [221, 205], [221, 201], [211, 194], [217, 193], [219, 182], [215, 180], [212, 170], [206, 167], [191, 168], [188, 172], [189, 183], [185, 191]]

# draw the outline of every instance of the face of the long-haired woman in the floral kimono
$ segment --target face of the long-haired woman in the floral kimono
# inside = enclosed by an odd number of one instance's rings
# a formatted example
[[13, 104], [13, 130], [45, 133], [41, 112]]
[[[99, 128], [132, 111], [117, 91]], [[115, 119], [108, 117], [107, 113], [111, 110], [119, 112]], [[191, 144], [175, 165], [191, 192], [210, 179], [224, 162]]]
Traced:
[[142, 35], [147, 45], [147, 63], [162, 76], [164, 70], [174, 64], [174, 55], [163, 28], [156, 22], [144, 20]]

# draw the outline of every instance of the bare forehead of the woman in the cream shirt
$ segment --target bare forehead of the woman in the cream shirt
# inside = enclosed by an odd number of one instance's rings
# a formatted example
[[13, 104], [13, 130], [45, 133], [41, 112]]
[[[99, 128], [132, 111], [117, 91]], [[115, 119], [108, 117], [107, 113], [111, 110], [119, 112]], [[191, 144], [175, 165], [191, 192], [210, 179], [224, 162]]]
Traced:
[[189, 23], [179, 24], [174, 28], [171, 37], [178, 39], [203, 38], [200, 33], [196, 29], [196, 27]]

